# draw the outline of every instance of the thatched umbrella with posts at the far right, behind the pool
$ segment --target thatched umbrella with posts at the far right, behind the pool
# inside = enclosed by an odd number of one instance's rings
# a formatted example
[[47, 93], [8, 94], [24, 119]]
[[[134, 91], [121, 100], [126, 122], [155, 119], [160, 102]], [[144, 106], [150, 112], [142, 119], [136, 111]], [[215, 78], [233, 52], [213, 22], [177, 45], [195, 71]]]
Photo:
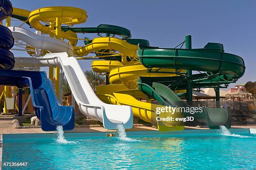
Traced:
[[[253, 98], [253, 95], [249, 92], [243, 91], [241, 88], [238, 88], [236, 92], [227, 93], [226, 98], [233, 99], [233, 101], [235, 98], [239, 98], [239, 110], [241, 110], [241, 98], [250, 100]], [[235, 110], [235, 102], [233, 102], [233, 109]]]

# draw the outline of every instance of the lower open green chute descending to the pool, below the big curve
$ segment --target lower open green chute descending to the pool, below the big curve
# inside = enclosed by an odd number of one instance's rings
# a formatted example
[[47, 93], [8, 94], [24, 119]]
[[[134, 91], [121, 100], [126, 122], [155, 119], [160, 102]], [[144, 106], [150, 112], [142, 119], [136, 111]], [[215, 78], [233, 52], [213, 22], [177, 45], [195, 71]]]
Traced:
[[[141, 82], [138, 78], [138, 88], [142, 92], [154, 97], [161, 105], [173, 107], [191, 107], [182, 101], [169, 87], [161, 83], [152, 83], [152, 87]], [[230, 114], [223, 108], [206, 108], [202, 112], [198, 111], [194, 114], [183, 112], [183, 117], [194, 117], [193, 125], [207, 125], [210, 129], [218, 129], [220, 125], [230, 128]], [[190, 122], [191, 124], [191, 122]]]

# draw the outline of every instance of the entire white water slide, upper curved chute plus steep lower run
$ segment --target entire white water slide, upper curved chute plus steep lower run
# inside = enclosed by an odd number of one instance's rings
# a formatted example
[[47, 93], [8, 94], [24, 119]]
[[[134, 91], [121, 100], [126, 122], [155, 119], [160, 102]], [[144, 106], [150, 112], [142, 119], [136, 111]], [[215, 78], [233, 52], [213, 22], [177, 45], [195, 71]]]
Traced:
[[[15, 57], [15, 66], [18, 67], [62, 67], [72, 94], [79, 106], [79, 110], [93, 120], [99, 120], [106, 129], [116, 129], [116, 124], [123, 123], [124, 128], [132, 128], [133, 113], [130, 106], [110, 105], [102, 102], [92, 90], [77, 59], [69, 57], [69, 45], [64, 41], [35, 33], [20, 27], [9, 27], [15, 40], [22, 40], [35, 47], [34, 44], [44, 46], [44, 50], [58, 51], [59, 47], [66, 47], [65, 52], [49, 53], [44, 57]], [[14, 31], [13, 31], [14, 30]], [[60, 44], [59, 41], [64, 42]], [[40, 43], [39, 43], [40, 42]], [[55, 42], [57, 42], [55, 44]], [[68, 43], [67, 43], [68, 44]], [[41, 48], [42, 46], [37, 48]], [[48, 49], [51, 48], [51, 49]]]

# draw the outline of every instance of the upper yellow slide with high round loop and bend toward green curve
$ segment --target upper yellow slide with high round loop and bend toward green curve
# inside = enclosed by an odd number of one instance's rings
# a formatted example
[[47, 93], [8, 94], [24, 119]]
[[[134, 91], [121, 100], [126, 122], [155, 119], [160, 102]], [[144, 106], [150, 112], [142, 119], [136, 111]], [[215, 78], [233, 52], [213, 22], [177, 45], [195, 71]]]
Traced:
[[[61, 29], [56, 29], [61, 25], [73, 26], [84, 23], [87, 20], [87, 12], [77, 7], [42, 7], [33, 11], [13, 8], [13, 14], [28, 18], [28, 22], [33, 28], [41, 31], [43, 34], [49, 34], [69, 40], [74, 46], [75, 55], [87, 55], [90, 52], [108, 49], [118, 50], [130, 57], [137, 57], [136, 45], [131, 45], [125, 40], [115, 37], [96, 37], [92, 43], [83, 47], [75, 47], [77, 45], [77, 34], [71, 30], [64, 32]], [[46, 26], [49, 25], [49, 26]], [[137, 57], [138, 58], [138, 57]]]

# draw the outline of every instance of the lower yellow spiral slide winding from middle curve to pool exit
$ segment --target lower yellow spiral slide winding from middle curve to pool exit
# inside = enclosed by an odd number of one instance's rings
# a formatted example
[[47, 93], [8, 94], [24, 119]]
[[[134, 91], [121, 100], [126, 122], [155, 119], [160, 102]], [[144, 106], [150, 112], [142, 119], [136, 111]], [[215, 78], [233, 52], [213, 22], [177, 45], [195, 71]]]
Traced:
[[[137, 47], [137, 46], [136, 46]], [[104, 48], [105, 49], [105, 48]], [[108, 48], [111, 49], [111, 48]], [[113, 49], [113, 48], [112, 48]], [[116, 50], [119, 48], [115, 48]], [[97, 49], [99, 50], [99, 49]], [[120, 52], [120, 50], [118, 50]], [[136, 52], [136, 50], [134, 51]], [[125, 49], [122, 49], [125, 56], [129, 56]], [[157, 77], [159, 73], [148, 73], [147, 69], [139, 61], [119, 62], [117, 60], [95, 60], [92, 62], [92, 70], [98, 73], [109, 73], [111, 85], [102, 85], [97, 87], [97, 96], [105, 103], [114, 105], [129, 105], [133, 110], [133, 116], [141, 118], [158, 126], [160, 131], [183, 130], [184, 125], [181, 122], [156, 121], [156, 107], [161, 105], [142, 102], [136, 98], [146, 99], [147, 96], [138, 90], [138, 76]], [[152, 69], [157, 70], [157, 68]], [[163, 69], [161, 71], [173, 72], [172, 69]], [[163, 74], [161, 74], [163, 76]], [[174, 76], [174, 74], [164, 74], [164, 76]], [[175, 112], [161, 113], [160, 117], [182, 117], [182, 113]]]

